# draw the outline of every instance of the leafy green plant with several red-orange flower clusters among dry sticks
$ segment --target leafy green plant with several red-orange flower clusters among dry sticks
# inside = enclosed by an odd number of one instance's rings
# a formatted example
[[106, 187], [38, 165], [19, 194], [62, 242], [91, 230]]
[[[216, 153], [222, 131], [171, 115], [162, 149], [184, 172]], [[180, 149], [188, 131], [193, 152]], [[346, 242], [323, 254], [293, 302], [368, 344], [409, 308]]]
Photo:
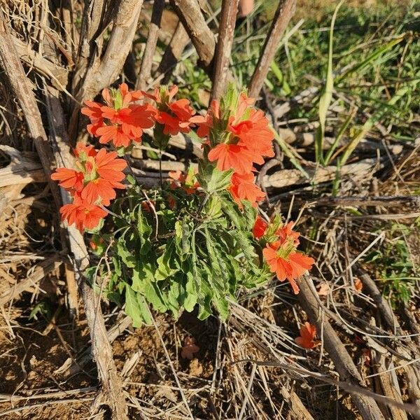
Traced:
[[[174, 99], [176, 92], [130, 92], [123, 84], [102, 92], [105, 104], [86, 101], [87, 131], [116, 150], [78, 144], [74, 169], [52, 174], [73, 196], [62, 218], [94, 232], [94, 252], [106, 260], [87, 270], [92, 285], [125, 304], [134, 326], [151, 321], [148, 305], [177, 316], [198, 304], [199, 318], [216, 308], [225, 319], [239, 288], [255, 288], [275, 273], [298, 293], [297, 279], [314, 262], [297, 251], [293, 223], [258, 216], [265, 193], [255, 184], [255, 165], [274, 155], [274, 134], [254, 100], [230, 87], [197, 115], [188, 99]], [[172, 172], [160, 188], [142, 188], [118, 155], [151, 127], [161, 150], [171, 135], [197, 130], [204, 151], [198, 171]], [[116, 190], [126, 191], [117, 197]]]

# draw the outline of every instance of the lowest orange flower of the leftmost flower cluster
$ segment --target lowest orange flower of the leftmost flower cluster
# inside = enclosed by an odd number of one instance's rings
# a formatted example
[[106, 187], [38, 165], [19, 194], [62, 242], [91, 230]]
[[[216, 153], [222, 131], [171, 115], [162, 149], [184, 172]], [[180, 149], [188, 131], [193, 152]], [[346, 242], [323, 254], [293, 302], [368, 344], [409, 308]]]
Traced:
[[90, 204], [76, 198], [73, 203], [65, 204], [59, 209], [62, 219], [69, 225], [76, 225], [76, 228], [83, 230], [93, 230], [99, 225], [99, 222], [106, 216], [106, 211], [94, 204]]

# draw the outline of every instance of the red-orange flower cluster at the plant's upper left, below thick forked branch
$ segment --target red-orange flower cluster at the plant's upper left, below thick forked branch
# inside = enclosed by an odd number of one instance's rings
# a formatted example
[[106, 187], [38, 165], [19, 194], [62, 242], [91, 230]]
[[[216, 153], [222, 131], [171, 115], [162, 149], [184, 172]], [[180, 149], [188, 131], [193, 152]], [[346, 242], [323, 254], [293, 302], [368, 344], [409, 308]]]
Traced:
[[132, 141], [141, 140], [144, 128], [153, 127], [156, 110], [149, 104], [135, 103], [144, 97], [141, 91], [129, 92], [123, 83], [118, 89], [104, 89], [102, 97], [106, 105], [85, 101], [82, 108], [82, 113], [90, 118], [87, 131], [99, 137], [99, 143], [127, 147]]

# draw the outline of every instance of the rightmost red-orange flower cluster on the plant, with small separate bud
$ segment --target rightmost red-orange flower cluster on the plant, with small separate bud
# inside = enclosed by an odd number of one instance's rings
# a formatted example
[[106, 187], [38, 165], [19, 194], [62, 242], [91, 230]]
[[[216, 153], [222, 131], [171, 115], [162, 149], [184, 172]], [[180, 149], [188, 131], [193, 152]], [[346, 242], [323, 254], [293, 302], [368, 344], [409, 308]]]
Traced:
[[[269, 228], [268, 223], [257, 217], [253, 235], [256, 239], [262, 238]], [[288, 279], [293, 292], [299, 293], [299, 286], [296, 280], [307, 270], [311, 269], [314, 259], [304, 253], [297, 251], [299, 245], [299, 233], [293, 229], [293, 222], [289, 222], [277, 228], [272, 235], [267, 238], [262, 255], [269, 265], [272, 273], [276, 273], [280, 281]]]

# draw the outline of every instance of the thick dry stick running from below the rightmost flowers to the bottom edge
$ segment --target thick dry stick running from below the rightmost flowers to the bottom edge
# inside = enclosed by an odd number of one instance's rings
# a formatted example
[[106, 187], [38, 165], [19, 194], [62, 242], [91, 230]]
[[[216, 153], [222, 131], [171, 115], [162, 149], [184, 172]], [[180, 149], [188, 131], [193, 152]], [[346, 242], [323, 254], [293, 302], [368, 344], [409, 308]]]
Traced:
[[[323, 342], [326, 351], [334, 362], [335, 368], [342, 381], [364, 386], [363, 380], [356, 365], [354, 365], [344, 344], [340, 341], [337, 333], [330, 325], [327, 316], [321, 316], [322, 303], [316, 298], [316, 289], [309, 276], [305, 276], [300, 282], [300, 304], [307, 313], [311, 323], [314, 323], [318, 331], [323, 330]], [[367, 395], [353, 394], [353, 401], [364, 420], [384, 420], [377, 402]]]

